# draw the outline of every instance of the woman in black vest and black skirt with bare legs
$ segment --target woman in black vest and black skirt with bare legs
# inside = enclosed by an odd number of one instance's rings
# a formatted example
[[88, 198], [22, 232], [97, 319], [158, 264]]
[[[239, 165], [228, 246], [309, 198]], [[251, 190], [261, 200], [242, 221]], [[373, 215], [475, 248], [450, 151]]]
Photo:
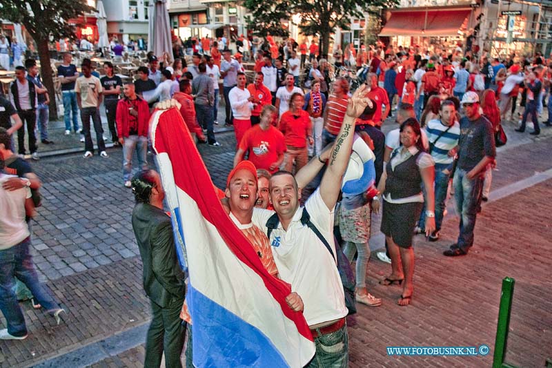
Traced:
[[[401, 146], [391, 153], [377, 189], [383, 193], [382, 233], [385, 234], [391, 256], [391, 275], [382, 285], [403, 284], [397, 304], [411, 303], [414, 275], [413, 231], [424, 205], [424, 188], [433, 188], [435, 169], [431, 155], [422, 144], [420, 124], [413, 117], [400, 127]], [[426, 236], [435, 231], [435, 198], [433, 190], [426, 191]], [[373, 211], [380, 203], [373, 202]]]

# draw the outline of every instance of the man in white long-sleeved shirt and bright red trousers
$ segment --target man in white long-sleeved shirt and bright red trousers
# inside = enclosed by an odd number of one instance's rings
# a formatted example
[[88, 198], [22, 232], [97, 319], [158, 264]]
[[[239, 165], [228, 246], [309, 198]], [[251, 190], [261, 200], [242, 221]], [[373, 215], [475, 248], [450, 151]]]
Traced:
[[246, 75], [243, 72], [237, 73], [237, 86], [230, 90], [228, 99], [232, 107], [232, 116], [234, 124], [234, 133], [236, 135], [236, 146], [242, 142], [242, 137], [246, 130], [251, 128], [251, 110], [253, 110], [253, 102], [258, 101], [251, 95], [246, 88]]

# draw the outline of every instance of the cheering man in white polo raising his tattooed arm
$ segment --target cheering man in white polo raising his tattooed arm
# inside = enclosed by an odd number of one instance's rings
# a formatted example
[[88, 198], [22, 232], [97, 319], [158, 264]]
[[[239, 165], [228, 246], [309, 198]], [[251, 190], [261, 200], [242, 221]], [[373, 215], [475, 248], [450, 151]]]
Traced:
[[[277, 213], [277, 224], [270, 224], [270, 245], [280, 278], [291, 284], [304, 302], [304, 316], [311, 328], [316, 354], [310, 367], [348, 367], [348, 336], [345, 317], [348, 309], [343, 284], [336, 267], [333, 216], [348, 159], [353, 146], [355, 119], [369, 103], [362, 98], [366, 86], [359, 88], [349, 102], [346, 117], [331, 151], [324, 151], [293, 177], [279, 171], [270, 178], [270, 203]], [[308, 198], [305, 209], [328, 247], [299, 207], [299, 186], [311, 181], [328, 159], [319, 188]], [[296, 181], [297, 180], [297, 181]], [[268, 233], [273, 211], [255, 209], [253, 223]]]

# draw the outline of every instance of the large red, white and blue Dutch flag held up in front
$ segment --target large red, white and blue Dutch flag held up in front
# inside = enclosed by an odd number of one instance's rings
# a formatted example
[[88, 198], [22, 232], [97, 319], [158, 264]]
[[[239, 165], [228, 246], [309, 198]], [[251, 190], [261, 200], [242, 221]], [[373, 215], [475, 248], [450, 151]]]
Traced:
[[150, 120], [193, 325], [195, 367], [302, 367], [315, 353], [290, 285], [269, 275], [221, 206], [176, 108]]

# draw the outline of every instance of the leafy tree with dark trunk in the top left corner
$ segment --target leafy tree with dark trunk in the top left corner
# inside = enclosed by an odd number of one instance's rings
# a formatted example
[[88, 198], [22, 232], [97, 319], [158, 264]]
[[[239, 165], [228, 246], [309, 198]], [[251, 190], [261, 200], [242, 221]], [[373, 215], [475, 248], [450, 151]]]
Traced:
[[37, 43], [41, 75], [50, 95], [50, 119], [57, 119], [57, 106], [48, 52], [49, 37], [74, 39], [75, 26], [69, 24], [68, 19], [94, 11], [85, 0], [0, 0], [1, 17], [21, 23]]

